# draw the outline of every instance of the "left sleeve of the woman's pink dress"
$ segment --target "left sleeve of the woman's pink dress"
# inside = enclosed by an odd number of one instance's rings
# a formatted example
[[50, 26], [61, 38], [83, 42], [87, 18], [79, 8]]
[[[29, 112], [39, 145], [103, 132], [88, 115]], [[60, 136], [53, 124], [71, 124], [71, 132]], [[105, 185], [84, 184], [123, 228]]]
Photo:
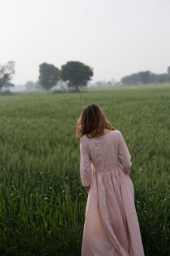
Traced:
[[80, 174], [81, 174], [81, 181], [84, 187], [90, 185], [90, 181], [92, 178], [92, 170], [91, 170], [91, 161], [87, 149], [85, 148], [82, 139], [80, 141], [80, 151], [81, 151], [81, 158], [80, 158]]

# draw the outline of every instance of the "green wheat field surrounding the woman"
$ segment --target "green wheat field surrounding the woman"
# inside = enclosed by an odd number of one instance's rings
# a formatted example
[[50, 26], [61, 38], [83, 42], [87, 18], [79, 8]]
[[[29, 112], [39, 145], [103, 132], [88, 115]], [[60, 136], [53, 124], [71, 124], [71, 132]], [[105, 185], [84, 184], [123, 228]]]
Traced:
[[87, 195], [76, 122], [121, 130], [146, 256], [170, 256], [170, 84], [0, 96], [0, 256], [80, 256]]

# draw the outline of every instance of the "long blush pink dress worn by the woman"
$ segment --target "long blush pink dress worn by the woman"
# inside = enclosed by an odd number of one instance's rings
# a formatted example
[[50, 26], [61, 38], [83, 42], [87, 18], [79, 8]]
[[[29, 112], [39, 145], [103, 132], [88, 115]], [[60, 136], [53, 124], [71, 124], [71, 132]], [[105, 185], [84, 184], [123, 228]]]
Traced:
[[83, 135], [80, 147], [81, 181], [90, 185], [81, 256], [144, 256], [129, 177], [131, 156], [121, 132]]

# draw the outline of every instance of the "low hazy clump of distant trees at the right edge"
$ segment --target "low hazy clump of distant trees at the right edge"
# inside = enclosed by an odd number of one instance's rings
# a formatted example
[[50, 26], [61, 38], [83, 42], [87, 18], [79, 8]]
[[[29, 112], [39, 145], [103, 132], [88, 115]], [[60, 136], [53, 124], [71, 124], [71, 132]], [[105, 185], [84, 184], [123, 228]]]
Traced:
[[132, 75], [125, 76], [121, 79], [122, 85], [138, 85], [138, 84], [150, 84], [150, 83], [165, 83], [170, 82], [170, 66], [167, 69], [167, 73], [154, 74], [150, 71], [144, 71], [134, 73]]

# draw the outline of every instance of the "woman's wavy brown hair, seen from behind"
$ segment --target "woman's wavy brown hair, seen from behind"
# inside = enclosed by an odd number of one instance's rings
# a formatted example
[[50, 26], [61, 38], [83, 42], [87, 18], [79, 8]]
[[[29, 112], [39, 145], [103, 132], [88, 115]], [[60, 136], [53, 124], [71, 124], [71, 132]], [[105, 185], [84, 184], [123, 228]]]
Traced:
[[107, 130], [115, 130], [114, 127], [111, 128], [110, 122], [101, 112], [101, 109], [97, 105], [90, 103], [83, 107], [80, 118], [77, 121], [76, 139], [80, 141], [84, 134], [87, 137], [99, 137], [103, 135], [105, 128]]

